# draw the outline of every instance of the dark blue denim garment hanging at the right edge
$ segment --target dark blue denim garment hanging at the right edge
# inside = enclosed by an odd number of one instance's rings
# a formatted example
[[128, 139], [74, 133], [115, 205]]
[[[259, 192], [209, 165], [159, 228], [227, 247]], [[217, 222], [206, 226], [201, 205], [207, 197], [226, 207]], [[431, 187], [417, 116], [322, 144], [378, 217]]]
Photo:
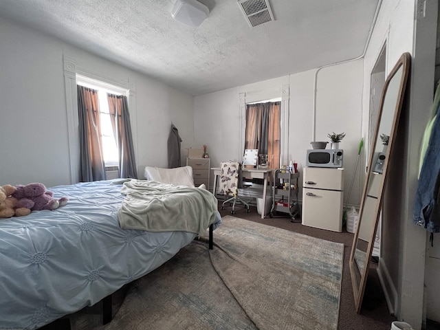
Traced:
[[[437, 88], [438, 89], [438, 88]], [[429, 125], [429, 124], [428, 124]], [[428, 127], [427, 127], [428, 128]], [[415, 195], [415, 206], [412, 220], [416, 225], [426, 228], [430, 232], [440, 232], [439, 219], [432, 210], [438, 196], [434, 196], [436, 183], [440, 170], [440, 115], [437, 106], [437, 114], [432, 122], [426, 154], [423, 157], [419, 175], [419, 184]]]

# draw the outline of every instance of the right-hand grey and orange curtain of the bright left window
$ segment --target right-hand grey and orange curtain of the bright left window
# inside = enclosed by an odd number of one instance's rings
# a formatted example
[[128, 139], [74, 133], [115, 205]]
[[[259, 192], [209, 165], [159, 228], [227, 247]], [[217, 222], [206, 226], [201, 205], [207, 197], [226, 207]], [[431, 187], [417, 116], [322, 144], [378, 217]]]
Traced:
[[107, 94], [113, 135], [118, 146], [119, 177], [137, 179], [129, 104], [126, 96]]

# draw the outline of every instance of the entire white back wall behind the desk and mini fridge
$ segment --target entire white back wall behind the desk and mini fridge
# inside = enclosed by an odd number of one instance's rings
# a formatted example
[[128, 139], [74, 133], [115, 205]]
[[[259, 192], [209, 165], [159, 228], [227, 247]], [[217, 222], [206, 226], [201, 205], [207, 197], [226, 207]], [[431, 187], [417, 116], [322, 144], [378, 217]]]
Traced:
[[[347, 198], [362, 137], [362, 70], [362, 60], [320, 70], [317, 76], [315, 121], [313, 111], [316, 70], [196, 96], [194, 101], [195, 141], [208, 145], [213, 167], [229, 159], [241, 161], [243, 151], [239, 150], [241, 139], [239, 124], [243, 118], [240, 113], [239, 93], [258, 91], [264, 86], [267, 89], [274, 86], [281, 87], [287, 83], [290, 90], [289, 159], [296, 161], [300, 170], [305, 166], [306, 150], [311, 148], [314, 126], [316, 126], [317, 141], [328, 141], [327, 133], [332, 131], [347, 133], [340, 144], [340, 147], [344, 149], [346, 173], [344, 184]], [[281, 97], [281, 93], [279, 96]], [[355, 205], [360, 203], [360, 190], [362, 190], [360, 168], [358, 168], [350, 198], [350, 202]]]

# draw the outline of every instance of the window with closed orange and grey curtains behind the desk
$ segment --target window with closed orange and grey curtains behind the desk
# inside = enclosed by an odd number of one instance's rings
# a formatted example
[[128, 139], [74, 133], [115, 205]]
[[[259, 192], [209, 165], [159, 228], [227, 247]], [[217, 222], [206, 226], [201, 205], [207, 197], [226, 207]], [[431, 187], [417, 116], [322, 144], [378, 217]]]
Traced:
[[245, 149], [258, 149], [269, 168], [280, 167], [281, 102], [246, 104]]

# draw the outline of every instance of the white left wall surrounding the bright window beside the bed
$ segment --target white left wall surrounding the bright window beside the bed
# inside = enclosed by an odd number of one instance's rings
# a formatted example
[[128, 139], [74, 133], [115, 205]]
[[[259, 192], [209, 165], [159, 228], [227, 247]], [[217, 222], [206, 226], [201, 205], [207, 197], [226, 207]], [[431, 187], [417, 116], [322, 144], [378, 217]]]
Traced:
[[[135, 86], [132, 122], [138, 175], [168, 166], [173, 122], [185, 148], [193, 144], [192, 96], [45, 34], [0, 19], [0, 184], [70, 184], [63, 55], [78, 66]], [[133, 119], [133, 118], [132, 118]]]

